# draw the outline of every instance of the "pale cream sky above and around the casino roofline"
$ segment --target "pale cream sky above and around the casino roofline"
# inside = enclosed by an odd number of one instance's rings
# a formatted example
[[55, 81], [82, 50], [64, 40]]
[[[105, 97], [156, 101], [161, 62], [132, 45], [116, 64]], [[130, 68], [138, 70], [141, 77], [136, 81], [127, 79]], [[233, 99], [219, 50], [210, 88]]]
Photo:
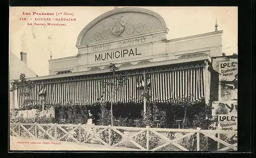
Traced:
[[[222, 52], [238, 53], [237, 7], [140, 7], [160, 14], [166, 22], [167, 39], [193, 36], [223, 30]], [[10, 7], [10, 52], [20, 58], [20, 52], [28, 54], [28, 66], [38, 75], [49, 75], [48, 60], [75, 56], [80, 31], [93, 19], [113, 10], [114, 7]], [[65, 27], [28, 26], [22, 18], [35, 17], [23, 12], [73, 12], [76, 21], [67, 21]], [[54, 16], [55, 18], [56, 16]], [[37, 21], [36, 21], [37, 22]], [[10, 63], [12, 64], [12, 63]]]

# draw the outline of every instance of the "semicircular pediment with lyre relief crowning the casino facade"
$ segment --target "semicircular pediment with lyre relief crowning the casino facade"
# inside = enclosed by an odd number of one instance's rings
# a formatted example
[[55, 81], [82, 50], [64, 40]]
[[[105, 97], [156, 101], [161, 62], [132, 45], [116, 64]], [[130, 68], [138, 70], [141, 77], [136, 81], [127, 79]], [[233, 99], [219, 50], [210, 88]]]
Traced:
[[115, 9], [90, 22], [79, 34], [77, 47], [164, 29], [163, 18], [155, 12], [130, 7]]

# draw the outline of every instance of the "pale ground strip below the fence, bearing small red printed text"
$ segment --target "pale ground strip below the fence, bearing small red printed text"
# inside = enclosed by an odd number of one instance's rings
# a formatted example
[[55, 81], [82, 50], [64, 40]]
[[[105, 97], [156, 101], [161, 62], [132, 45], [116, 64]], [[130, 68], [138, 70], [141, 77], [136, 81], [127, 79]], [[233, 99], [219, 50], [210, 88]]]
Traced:
[[103, 150], [136, 151], [136, 149], [107, 147], [96, 144], [78, 144], [74, 142], [30, 139], [10, 136], [10, 150]]

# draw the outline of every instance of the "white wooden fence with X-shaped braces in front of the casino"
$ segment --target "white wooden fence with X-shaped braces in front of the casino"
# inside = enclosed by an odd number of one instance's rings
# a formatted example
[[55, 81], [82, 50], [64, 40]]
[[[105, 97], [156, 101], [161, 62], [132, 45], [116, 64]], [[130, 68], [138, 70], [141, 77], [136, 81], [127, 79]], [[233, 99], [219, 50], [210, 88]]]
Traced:
[[[228, 143], [216, 134], [237, 134], [237, 131], [139, 128], [73, 124], [10, 123], [10, 135], [32, 139], [48, 139], [80, 143], [96, 143], [109, 147], [137, 148], [143, 151], [201, 151], [209, 141], [222, 144], [218, 151], [236, 150], [237, 142]], [[237, 135], [236, 135], [237, 136]], [[190, 137], [190, 138], [189, 138]], [[189, 143], [189, 145], [187, 145]], [[191, 148], [194, 146], [194, 148]], [[190, 149], [189, 149], [190, 148]], [[216, 149], [217, 150], [217, 149]]]

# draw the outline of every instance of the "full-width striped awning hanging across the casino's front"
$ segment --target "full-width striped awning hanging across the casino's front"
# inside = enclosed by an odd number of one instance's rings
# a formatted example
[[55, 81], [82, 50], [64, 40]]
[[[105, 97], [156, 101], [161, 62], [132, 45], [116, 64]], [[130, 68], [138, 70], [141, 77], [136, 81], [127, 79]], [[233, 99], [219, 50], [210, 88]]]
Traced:
[[[143, 73], [128, 74], [126, 84], [123, 84], [113, 97], [113, 103], [140, 103], [143, 101], [142, 93], [144, 86], [150, 87], [149, 93], [153, 102], [168, 102], [172, 98], [194, 95], [195, 100], [205, 97], [206, 75], [205, 67], [186, 67], [186, 69], [172, 69], [163, 71], [146, 72], [144, 82]], [[209, 78], [209, 77], [207, 77]], [[27, 99], [39, 100], [42, 89], [46, 97], [46, 105], [94, 105], [100, 101], [111, 102], [110, 85], [104, 89], [101, 82], [113, 82], [110, 76], [96, 78], [77, 78], [58, 82], [46, 82], [44, 85], [37, 84], [34, 88], [20, 87], [18, 89], [19, 105], [24, 103], [22, 92], [30, 92], [32, 95]], [[142, 82], [143, 81], [143, 82]], [[208, 81], [210, 83], [210, 81]], [[42, 88], [44, 86], [44, 88]], [[105, 93], [104, 93], [105, 92]], [[207, 91], [209, 92], [209, 91]], [[102, 100], [99, 98], [103, 96]], [[22, 106], [19, 106], [20, 108]]]

